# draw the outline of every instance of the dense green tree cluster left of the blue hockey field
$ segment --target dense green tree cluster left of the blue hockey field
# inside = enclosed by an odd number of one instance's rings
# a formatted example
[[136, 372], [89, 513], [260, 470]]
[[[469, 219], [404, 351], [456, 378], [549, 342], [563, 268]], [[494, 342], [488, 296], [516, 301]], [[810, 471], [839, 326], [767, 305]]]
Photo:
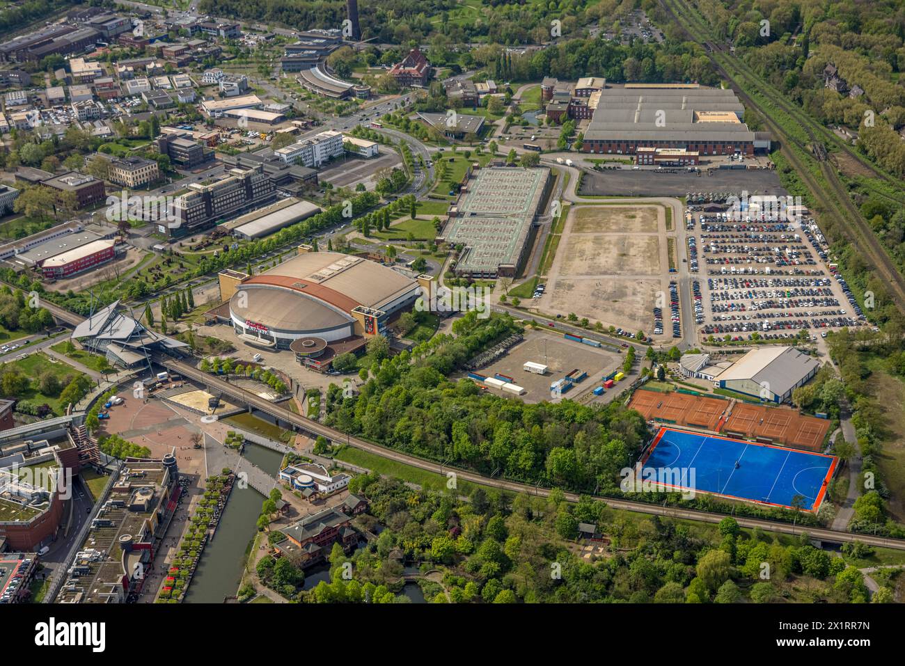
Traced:
[[510, 335], [510, 318], [470, 312], [440, 335], [375, 362], [356, 398], [331, 404], [328, 423], [434, 460], [511, 479], [570, 489], [614, 489], [618, 473], [643, 444], [640, 415], [564, 401], [523, 404], [481, 395], [446, 375]]

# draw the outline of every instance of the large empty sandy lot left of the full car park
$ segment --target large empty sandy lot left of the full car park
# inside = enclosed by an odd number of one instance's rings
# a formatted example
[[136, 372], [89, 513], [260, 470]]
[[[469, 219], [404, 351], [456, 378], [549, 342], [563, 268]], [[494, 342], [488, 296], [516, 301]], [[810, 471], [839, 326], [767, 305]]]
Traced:
[[[673, 228], [675, 225], [673, 225]], [[649, 330], [657, 292], [669, 289], [665, 211], [660, 205], [575, 205], [549, 271], [541, 312]]]

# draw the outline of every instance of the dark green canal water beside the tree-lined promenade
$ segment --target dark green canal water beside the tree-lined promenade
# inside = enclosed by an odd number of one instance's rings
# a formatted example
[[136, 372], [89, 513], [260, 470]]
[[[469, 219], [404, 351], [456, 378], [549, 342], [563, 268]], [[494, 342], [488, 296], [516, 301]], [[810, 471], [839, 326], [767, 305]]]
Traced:
[[[280, 452], [246, 444], [243, 456], [274, 476], [280, 471]], [[251, 487], [233, 490], [214, 540], [205, 549], [188, 587], [186, 604], [222, 604], [224, 597], [236, 593], [263, 501], [264, 496]]]

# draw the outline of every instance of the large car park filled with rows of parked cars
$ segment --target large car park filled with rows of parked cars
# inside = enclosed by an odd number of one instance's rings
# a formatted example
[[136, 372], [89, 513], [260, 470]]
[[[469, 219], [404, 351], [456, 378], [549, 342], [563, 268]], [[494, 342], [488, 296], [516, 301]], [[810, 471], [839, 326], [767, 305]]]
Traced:
[[699, 232], [689, 237], [690, 261], [700, 252], [707, 275], [692, 281], [702, 337], [816, 339], [867, 325], [809, 216], [701, 208], [690, 206], [688, 228]]

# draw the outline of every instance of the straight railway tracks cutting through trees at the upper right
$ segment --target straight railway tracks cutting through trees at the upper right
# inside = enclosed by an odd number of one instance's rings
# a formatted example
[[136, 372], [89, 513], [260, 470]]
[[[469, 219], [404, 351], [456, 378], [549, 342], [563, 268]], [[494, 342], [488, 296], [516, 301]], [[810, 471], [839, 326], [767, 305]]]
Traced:
[[[698, 18], [696, 10], [687, 2], [684, 2], [684, 0], [662, 0], [662, 5], [666, 12], [672, 16], [676, 24], [679, 24], [693, 41], [706, 43], [709, 46], [707, 51], [710, 61], [713, 62], [722, 76], [732, 82], [733, 88], [738, 93], [738, 97], [749, 108], [757, 109], [763, 117], [767, 128], [769, 128], [777, 138], [780, 138], [783, 155], [788, 159], [791, 166], [795, 168], [797, 175], [805, 183], [805, 186], [807, 186], [812, 195], [814, 195], [814, 199], [823, 208], [824, 214], [833, 218], [834, 226], [854, 245], [856, 250], [862, 254], [865, 260], [874, 266], [879, 277], [881, 277], [881, 280], [889, 288], [891, 299], [900, 309], [905, 309], [905, 278], [902, 277], [889, 254], [873, 234], [870, 226], [862, 218], [861, 212], [854, 205], [845, 186], [839, 181], [834, 166], [829, 161], [816, 160], [816, 164], [819, 167], [821, 174], [824, 176], [826, 183], [830, 186], [830, 192], [824, 192], [824, 188], [820, 186], [814, 178], [814, 175], [807, 168], [802, 158], [799, 157], [794, 149], [789, 147], [790, 144], [795, 144], [804, 148], [807, 152], [811, 152], [808, 145], [812, 148], [816, 146], [823, 147], [823, 141], [815, 135], [814, 130], [810, 127], [813, 121], [810, 121], [809, 119], [805, 121], [805, 119], [801, 117], [801, 111], [790, 109], [786, 102], [778, 99], [776, 93], [773, 90], [769, 90], [768, 86], [765, 86], [759, 81], [753, 72], [750, 72], [747, 75], [742, 73], [741, 76], [747, 77], [748, 82], [757, 89], [759, 94], [763, 95], [770, 103], [775, 104], [778, 109], [782, 109], [791, 118], [797, 119], [800, 123], [800, 127], [809, 140], [807, 142], [802, 142], [799, 139], [791, 137], [788, 132], [786, 132], [786, 129], [771, 117], [767, 109], [763, 109], [761, 105], [744, 90], [741, 82], [738, 81], [740, 78], [739, 75], [733, 75], [733, 73], [729, 71], [729, 65], [734, 66], [734, 69], [737, 71], [743, 71], [747, 68], [747, 65], [739, 64], [737, 58], [731, 58], [730, 60], [729, 53], [725, 52], [725, 49], [720, 44], [708, 41], [706, 24]], [[721, 62], [724, 59], [726, 62], [725, 65]]]

